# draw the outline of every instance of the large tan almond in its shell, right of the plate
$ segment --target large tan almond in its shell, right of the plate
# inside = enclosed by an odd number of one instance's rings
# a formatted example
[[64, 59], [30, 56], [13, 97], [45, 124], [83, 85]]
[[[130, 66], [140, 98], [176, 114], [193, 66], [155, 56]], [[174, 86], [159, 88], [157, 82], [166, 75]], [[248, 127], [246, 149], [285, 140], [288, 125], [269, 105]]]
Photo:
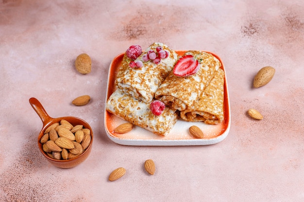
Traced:
[[270, 66], [260, 69], [253, 79], [253, 87], [258, 88], [266, 85], [273, 78], [275, 69]]

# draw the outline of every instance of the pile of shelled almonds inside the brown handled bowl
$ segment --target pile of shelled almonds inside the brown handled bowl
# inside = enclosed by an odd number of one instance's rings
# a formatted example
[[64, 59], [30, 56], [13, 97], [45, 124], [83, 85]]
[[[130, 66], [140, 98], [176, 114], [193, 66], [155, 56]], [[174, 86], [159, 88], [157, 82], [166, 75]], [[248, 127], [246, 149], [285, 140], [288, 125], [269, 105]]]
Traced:
[[91, 131], [83, 125], [73, 126], [66, 120], [51, 124], [42, 136], [43, 151], [51, 158], [67, 160], [84, 153], [91, 142]]

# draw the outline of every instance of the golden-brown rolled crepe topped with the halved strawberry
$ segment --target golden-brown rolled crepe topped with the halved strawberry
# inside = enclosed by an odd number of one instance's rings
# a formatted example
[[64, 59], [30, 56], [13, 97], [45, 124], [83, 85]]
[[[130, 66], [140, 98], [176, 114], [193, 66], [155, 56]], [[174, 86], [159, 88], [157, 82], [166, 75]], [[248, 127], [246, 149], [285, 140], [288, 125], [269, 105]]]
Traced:
[[175, 76], [172, 71], [155, 93], [155, 98], [171, 109], [182, 111], [191, 108], [221, 66], [220, 61], [210, 53], [203, 51], [185, 53], [185, 55], [189, 54], [202, 60], [199, 71], [188, 77]]

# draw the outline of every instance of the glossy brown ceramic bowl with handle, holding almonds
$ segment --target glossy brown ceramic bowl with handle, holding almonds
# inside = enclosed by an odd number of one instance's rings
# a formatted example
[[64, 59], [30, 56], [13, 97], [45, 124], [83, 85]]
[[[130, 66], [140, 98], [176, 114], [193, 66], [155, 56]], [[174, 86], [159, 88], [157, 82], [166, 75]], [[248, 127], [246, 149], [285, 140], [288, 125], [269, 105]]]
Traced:
[[[79, 165], [80, 163], [82, 163], [87, 156], [90, 154], [91, 149], [92, 149], [92, 142], [93, 142], [93, 131], [91, 126], [86, 123], [84, 120], [76, 118], [76, 117], [72, 117], [72, 116], [67, 116], [67, 117], [60, 117], [60, 118], [51, 118], [48, 113], [46, 112], [46, 110], [43, 108], [43, 106], [41, 105], [41, 103], [34, 97], [30, 98], [30, 104], [33, 107], [33, 109], [36, 111], [36, 113], [38, 114], [38, 116], [40, 117], [42, 123], [43, 123], [43, 127], [38, 135], [38, 147], [40, 149], [40, 152], [42, 153], [42, 155], [44, 155], [44, 157], [54, 166], [59, 167], [59, 168], [73, 168], [77, 165]], [[42, 138], [42, 136], [44, 135], [44, 131], [51, 125], [54, 123], [58, 123], [60, 122], [62, 119], [68, 121], [70, 124], [72, 125], [83, 125], [84, 128], [88, 128], [91, 131], [91, 142], [89, 144], [89, 146], [85, 149], [84, 153], [82, 153], [81, 155], [78, 155], [75, 158], [72, 159], [67, 159], [67, 160], [57, 160], [54, 158], [51, 158], [49, 155], [47, 155], [43, 149], [42, 149], [42, 144], [40, 143], [40, 139]]]

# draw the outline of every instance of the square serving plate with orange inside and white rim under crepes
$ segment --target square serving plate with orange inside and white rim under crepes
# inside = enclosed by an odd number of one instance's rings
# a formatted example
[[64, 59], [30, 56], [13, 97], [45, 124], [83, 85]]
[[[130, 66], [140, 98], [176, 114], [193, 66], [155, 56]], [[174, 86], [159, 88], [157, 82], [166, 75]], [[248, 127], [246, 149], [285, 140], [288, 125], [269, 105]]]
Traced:
[[[182, 56], [186, 52], [186, 50], [176, 50], [176, 52], [180, 56]], [[116, 115], [113, 115], [107, 110], [104, 110], [104, 127], [108, 138], [118, 144], [136, 146], [209, 145], [224, 140], [229, 133], [231, 122], [226, 71], [220, 57], [218, 57], [214, 53], [211, 54], [214, 55], [217, 59], [219, 59], [222, 64], [221, 68], [225, 72], [224, 120], [222, 123], [216, 125], [209, 125], [204, 124], [203, 122], [186, 122], [179, 118], [174, 127], [171, 129], [170, 133], [165, 137], [155, 135], [152, 132], [139, 126], [134, 126], [134, 128], [128, 133], [118, 134], [114, 132], [115, 128], [120, 124], [126, 123], [127, 121], [119, 118]], [[121, 53], [116, 56], [110, 64], [106, 101], [108, 100], [110, 95], [116, 90], [114, 81], [116, 79], [123, 55], [124, 53]], [[204, 134], [203, 139], [196, 139], [190, 135], [189, 127], [192, 125], [196, 125], [202, 129]]]

